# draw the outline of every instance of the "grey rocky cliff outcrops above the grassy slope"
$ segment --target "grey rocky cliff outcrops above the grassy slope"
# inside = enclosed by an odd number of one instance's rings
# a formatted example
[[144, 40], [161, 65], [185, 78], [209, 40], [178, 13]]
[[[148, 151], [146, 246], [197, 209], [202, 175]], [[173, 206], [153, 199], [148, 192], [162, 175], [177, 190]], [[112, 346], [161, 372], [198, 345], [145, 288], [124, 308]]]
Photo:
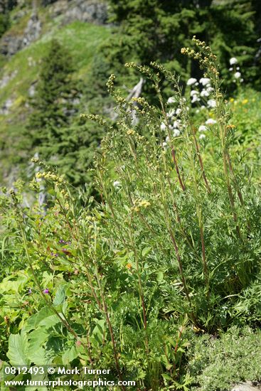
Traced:
[[[51, 4], [50, 4], [51, 3]], [[50, 18], [58, 18], [58, 23], [63, 26], [73, 21], [82, 21], [95, 23], [98, 25], [105, 24], [107, 21], [107, 4], [97, 0], [58, 0], [46, 1], [48, 14]], [[21, 6], [21, 5], [20, 5]], [[21, 8], [16, 18], [23, 18], [29, 10]], [[0, 40], [0, 53], [11, 56], [36, 41], [41, 36], [42, 21], [38, 14], [37, 7], [33, 7], [31, 16], [23, 31], [13, 33], [7, 31]]]

